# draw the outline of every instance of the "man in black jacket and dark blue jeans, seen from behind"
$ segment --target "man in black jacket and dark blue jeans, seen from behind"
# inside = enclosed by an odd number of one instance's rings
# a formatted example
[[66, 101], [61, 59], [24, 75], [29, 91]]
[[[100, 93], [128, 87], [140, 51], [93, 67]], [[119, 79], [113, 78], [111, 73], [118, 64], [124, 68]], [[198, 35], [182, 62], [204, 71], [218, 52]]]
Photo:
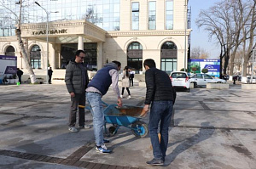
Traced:
[[[147, 113], [149, 104], [151, 104], [148, 127], [154, 155], [154, 159], [147, 161], [147, 164], [150, 166], [162, 166], [166, 157], [169, 137], [168, 127], [171, 123], [176, 92], [166, 72], [155, 68], [154, 59], [144, 60], [143, 65], [146, 70], [145, 80], [147, 87], [143, 110]], [[160, 140], [157, 133], [159, 123]]]

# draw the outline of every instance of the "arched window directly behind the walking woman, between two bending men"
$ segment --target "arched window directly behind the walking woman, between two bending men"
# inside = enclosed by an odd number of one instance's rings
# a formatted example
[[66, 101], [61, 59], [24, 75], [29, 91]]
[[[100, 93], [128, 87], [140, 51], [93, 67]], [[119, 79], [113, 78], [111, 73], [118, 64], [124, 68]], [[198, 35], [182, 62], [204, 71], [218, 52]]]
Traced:
[[128, 46], [127, 65], [136, 73], [143, 70], [143, 46], [139, 42], [131, 42]]

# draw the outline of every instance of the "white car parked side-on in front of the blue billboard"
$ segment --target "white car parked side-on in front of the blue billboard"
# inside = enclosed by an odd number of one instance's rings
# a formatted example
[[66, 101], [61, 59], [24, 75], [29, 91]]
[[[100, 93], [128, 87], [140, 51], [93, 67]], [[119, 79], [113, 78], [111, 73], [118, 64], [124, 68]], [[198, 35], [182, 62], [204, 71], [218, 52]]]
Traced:
[[224, 79], [214, 79], [207, 74], [197, 73], [190, 77], [190, 82], [194, 83], [194, 87], [197, 87], [198, 85], [207, 85], [207, 82], [225, 83], [226, 81]]

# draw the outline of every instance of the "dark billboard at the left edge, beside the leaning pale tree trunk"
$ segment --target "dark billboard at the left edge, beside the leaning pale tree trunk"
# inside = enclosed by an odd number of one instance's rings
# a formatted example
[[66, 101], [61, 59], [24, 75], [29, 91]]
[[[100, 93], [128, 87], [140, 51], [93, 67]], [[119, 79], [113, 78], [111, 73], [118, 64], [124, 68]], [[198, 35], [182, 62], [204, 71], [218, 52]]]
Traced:
[[9, 79], [17, 70], [17, 57], [16, 56], [4, 56], [0, 55], [0, 84], [3, 82], [3, 78]]

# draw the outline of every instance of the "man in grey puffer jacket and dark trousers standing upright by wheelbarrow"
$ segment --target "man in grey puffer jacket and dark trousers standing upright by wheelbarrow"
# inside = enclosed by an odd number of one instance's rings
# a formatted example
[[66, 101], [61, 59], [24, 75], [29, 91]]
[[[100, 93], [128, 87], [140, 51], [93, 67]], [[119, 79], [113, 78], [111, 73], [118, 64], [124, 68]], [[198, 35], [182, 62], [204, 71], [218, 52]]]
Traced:
[[84, 51], [78, 50], [75, 59], [69, 62], [66, 69], [65, 82], [72, 102], [68, 124], [70, 132], [79, 132], [75, 127], [78, 105], [82, 105], [81, 108], [79, 107], [79, 128], [90, 128], [90, 126], [84, 125], [85, 88], [89, 83], [84, 57]]

